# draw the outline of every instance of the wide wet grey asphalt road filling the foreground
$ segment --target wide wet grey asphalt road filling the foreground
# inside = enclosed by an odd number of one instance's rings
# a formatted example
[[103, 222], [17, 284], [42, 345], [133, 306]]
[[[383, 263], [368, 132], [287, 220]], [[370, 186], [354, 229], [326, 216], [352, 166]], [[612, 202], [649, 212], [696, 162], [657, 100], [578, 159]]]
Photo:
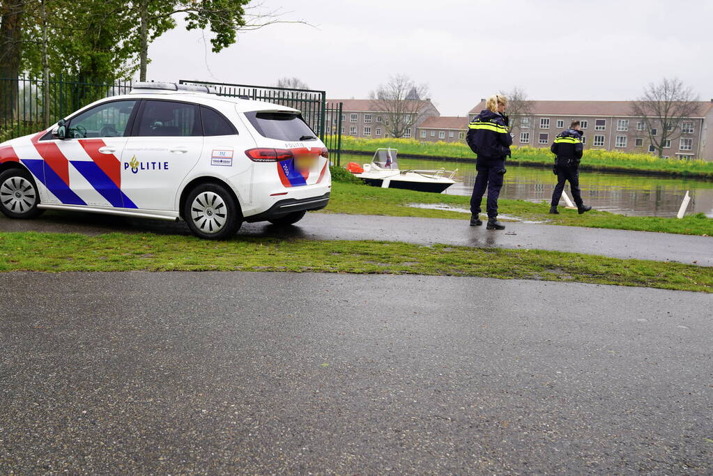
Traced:
[[0, 275], [0, 473], [710, 474], [713, 296]]

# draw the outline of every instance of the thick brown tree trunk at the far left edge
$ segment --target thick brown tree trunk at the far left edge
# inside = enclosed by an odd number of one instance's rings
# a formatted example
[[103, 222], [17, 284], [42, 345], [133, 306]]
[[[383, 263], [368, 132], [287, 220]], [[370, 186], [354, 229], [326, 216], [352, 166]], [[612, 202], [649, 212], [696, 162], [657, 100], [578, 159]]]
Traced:
[[1, 7], [0, 26], [0, 119], [13, 120], [17, 105], [21, 54], [21, 24], [24, 0], [7, 0]]

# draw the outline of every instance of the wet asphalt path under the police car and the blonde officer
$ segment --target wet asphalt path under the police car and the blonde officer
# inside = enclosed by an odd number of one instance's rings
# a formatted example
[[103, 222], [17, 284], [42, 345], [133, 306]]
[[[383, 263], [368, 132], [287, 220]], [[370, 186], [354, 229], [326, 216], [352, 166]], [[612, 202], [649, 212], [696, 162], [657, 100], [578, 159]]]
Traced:
[[[377, 217], [308, 213], [292, 227], [267, 222], [245, 223], [238, 236], [304, 239], [376, 239], [416, 244], [454, 244], [469, 247], [548, 249], [615, 258], [652, 259], [713, 267], [713, 237], [633, 232], [617, 229], [561, 227], [548, 224], [506, 223], [503, 231], [469, 227], [461, 220]], [[71, 232], [154, 232], [190, 234], [185, 223], [129, 219], [100, 214], [46, 212], [39, 219], [13, 220], [0, 216], [0, 230]]]

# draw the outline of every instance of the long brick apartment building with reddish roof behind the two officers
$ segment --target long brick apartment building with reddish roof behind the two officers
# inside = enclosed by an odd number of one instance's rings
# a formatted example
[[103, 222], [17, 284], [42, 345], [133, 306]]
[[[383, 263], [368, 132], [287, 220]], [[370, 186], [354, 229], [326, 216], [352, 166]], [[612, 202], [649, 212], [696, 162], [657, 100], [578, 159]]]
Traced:
[[[630, 101], [533, 101], [529, 116], [520, 119], [513, 128], [513, 145], [550, 147], [555, 135], [580, 120], [585, 133], [585, 149], [618, 150], [632, 153], [655, 153], [651, 135], [660, 135], [661, 125], [646, 130], [642, 118], [632, 115]], [[486, 108], [484, 99], [468, 113], [472, 120]], [[713, 99], [699, 102], [691, 118], [680, 124], [680, 137], [668, 140], [665, 157], [679, 159], [702, 158], [713, 161]], [[674, 136], [678, 136], [676, 131]]]

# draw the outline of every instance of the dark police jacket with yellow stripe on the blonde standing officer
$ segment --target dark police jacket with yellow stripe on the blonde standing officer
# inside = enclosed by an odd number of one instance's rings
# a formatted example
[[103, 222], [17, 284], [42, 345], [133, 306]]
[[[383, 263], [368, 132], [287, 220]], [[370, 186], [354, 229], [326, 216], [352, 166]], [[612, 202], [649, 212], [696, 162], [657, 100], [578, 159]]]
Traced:
[[481, 160], [505, 160], [510, 155], [513, 138], [508, 130], [508, 118], [485, 109], [468, 124], [466, 142]]

